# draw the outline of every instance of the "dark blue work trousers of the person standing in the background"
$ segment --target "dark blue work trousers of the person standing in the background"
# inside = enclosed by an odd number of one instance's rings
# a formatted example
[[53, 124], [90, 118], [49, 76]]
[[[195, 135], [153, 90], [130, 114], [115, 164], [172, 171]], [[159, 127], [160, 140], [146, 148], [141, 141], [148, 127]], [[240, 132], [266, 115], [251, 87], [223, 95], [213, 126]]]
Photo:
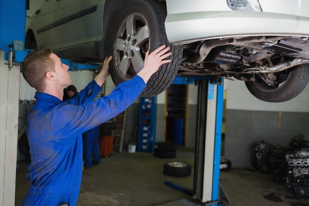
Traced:
[[100, 135], [100, 127], [94, 127], [87, 132], [82, 134], [82, 140], [84, 145], [84, 168], [91, 168], [92, 167], [92, 156], [93, 161], [98, 164], [101, 162], [100, 158], [100, 148], [98, 137]]

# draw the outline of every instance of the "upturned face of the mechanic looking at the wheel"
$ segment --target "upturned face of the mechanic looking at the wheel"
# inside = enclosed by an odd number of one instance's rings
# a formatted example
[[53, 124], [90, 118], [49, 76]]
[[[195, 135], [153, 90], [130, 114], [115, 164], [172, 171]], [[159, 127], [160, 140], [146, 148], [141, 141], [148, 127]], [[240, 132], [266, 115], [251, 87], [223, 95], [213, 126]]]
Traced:
[[50, 54], [50, 58], [55, 63], [55, 76], [58, 85], [65, 88], [72, 84], [70, 72], [68, 71], [69, 66], [61, 63], [61, 59], [54, 53]]

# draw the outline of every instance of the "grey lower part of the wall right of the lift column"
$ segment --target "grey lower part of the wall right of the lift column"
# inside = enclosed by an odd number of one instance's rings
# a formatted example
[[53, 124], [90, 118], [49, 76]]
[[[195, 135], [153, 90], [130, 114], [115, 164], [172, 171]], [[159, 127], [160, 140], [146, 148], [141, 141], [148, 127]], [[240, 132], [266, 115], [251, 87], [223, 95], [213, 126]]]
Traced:
[[225, 156], [233, 166], [251, 167], [253, 144], [265, 140], [287, 147], [292, 137], [309, 140], [309, 113], [227, 109]]

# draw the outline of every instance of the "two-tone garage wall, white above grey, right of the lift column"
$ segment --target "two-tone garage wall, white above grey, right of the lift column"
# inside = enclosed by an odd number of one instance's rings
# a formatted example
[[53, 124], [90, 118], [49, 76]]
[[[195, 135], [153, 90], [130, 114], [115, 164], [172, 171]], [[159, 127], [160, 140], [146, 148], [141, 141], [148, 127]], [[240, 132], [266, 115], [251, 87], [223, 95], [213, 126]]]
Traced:
[[291, 101], [267, 103], [253, 97], [244, 82], [228, 81], [225, 156], [233, 166], [251, 167], [254, 143], [288, 146], [298, 134], [309, 140], [309, 86]]

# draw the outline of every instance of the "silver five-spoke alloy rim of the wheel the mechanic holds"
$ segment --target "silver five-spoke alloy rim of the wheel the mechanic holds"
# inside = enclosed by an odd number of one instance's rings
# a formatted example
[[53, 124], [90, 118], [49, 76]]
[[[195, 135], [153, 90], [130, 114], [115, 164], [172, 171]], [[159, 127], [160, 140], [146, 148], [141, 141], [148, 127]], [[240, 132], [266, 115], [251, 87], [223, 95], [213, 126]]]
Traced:
[[123, 80], [131, 79], [144, 67], [149, 36], [147, 20], [140, 13], [131, 13], [121, 22], [114, 41], [114, 62]]

